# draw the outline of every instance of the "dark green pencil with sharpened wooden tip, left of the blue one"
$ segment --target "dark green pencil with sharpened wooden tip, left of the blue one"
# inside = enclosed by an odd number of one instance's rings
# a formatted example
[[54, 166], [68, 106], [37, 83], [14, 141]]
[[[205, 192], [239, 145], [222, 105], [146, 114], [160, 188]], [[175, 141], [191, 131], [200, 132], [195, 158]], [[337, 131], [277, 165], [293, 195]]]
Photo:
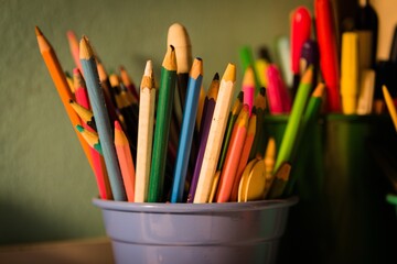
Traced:
[[175, 50], [169, 46], [162, 63], [157, 106], [153, 155], [149, 178], [149, 202], [160, 201], [163, 195], [167, 146], [176, 79]]

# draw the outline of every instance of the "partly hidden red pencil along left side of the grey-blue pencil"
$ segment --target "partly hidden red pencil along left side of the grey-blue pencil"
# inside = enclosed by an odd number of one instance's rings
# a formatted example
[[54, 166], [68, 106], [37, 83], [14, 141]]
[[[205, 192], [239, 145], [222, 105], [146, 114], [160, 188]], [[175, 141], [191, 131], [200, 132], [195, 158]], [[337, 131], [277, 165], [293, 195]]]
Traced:
[[[78, 68], [73, 69], [73, 81], [75, 87], [76, 102], [79, 103], [85, 109], [90, 109], [85, 80], [83, 78], [82, 72]], [[90, 132], [94, 132], [96, 131], [94, 114], [92, 118], [87, 118], [87, 120], [89, 119], [92, 119], [92, 121], [84, 122], [83, 128]], [[110, 183], [109, 183], [109, 177], [107, 175], [104, 156], [100, 155], [94, 148], [90, 150], [90, 154], [93, 158], [94, 174], [99, 189], [99, 196], [101, 199], [111, 200], [112, 194], [110, 189]]]

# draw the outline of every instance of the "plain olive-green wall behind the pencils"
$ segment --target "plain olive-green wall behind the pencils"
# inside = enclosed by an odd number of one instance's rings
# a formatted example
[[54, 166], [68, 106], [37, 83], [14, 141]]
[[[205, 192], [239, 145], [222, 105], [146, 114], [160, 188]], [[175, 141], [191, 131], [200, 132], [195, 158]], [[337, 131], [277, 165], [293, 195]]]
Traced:
[[[238, 48], [272, 47], [289, 34], [289, 12], [312, 0], [106, 1], [0, 0], [0, 244], [105, 234], [94, 174], [39, 52], [34, 26], [72, 72], [66, 31], [87, 35], [110, 72], [124, 65], [137, 84], [144, 62], [160, 76], [167, 32], [183, 23], [204, 84]], [[237, 82], [242, 73], [237, 75]]]

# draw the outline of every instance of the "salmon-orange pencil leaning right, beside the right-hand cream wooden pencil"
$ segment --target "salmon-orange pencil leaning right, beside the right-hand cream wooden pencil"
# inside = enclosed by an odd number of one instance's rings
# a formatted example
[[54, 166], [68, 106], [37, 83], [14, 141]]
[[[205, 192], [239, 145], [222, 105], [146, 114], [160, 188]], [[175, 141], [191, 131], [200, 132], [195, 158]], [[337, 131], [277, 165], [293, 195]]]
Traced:
[[216, 195], [217, 202], [226, 202], [230, 198], [237, 166], [247, 135], [248, 119], [249, 106], [244, 105], [234, 125], [230, 143], [227, 147], [225, 165], [222, 169], [221, 182]]

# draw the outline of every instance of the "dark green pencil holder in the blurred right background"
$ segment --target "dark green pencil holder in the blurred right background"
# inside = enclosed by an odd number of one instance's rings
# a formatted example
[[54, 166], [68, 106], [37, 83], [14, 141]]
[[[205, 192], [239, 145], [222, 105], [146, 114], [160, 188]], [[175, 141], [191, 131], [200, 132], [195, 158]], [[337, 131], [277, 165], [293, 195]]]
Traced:
[[[268, 117], [277, 142], [287, 116]], [[387, 116], [325, 114], [300, 138], [296, 179], [279, 263], [386, 263], [397, 246], [395, 211], [382, 164], [395, 156], [397, 138]], [[391, 150], [391, 152], [390, 152]], [[393, 210], [391, 210], [393, 209]]]

